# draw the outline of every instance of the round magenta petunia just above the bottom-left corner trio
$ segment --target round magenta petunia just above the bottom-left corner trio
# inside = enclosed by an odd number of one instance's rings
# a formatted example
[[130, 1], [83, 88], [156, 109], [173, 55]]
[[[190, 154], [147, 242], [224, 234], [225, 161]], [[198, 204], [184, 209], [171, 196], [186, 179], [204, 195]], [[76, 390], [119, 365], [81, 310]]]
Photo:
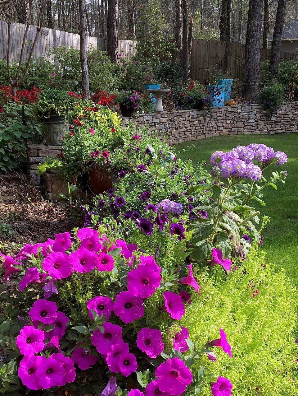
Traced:
[[45, 334], [34, 326], [24, 326], [20, 330], [15, 343], [22, 355], [28, 356], [43, 350]]

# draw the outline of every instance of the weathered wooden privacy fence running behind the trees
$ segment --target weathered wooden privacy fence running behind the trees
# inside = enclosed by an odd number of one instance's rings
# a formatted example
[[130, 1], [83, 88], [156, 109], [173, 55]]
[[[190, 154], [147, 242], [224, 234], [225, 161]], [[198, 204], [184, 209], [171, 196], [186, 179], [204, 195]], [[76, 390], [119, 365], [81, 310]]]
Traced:
[[[21, 51], [24, 32], [26, 29], [25, 24], [12, 23], [11, 24], [11, 43], [9, 48], [9, 59], [12, 61], [19, 60], [19, 53]], [[36, 27], [30, 26], [25, 46], [24, 60], [28, 59], [31, 48], [36, 34]], [[106, 50], [106, 40], [101, 37], [87, 36], [89, 45], [93, 48]], [[0, 21], [0, 57], [6, 59], [8, 42], [8, 26], [5, 21]], [[80, 48], [79, 34], [63, 32], [61, 30], [48, 29], [43, 27], [38, 36], [34, 53], [38, 57], [52, 60], [48, 55], [51, 47], [59, 47], [66, 45]], [[119, 54], [127, 54], [128, 59], [136, 53], [136, 42], [132, 40], [119, 40], [118, 42]], [[261, 48], [261, 58], [270, 59], [271, 49]], [[231, 43], [229, 70], [234, 78], [244, 79], [244, 55], [245, 45], [238, 43]], [[172, 51], [171, 57], [161, 57], [161, 59], [174, 60], [179, 57], [177, 51]], [[209, 83], [210, 75], [215, 70], [221, 70], [223, 66], [224, 57], [224, 43], [221, 41], [208, 41], [208, 40], [193, 40], [192, 53], [190, 58], [190, 78], [199, 80], [200, 82]], [[281, 59], [298, 59], [297, 53], [281, 52]]]

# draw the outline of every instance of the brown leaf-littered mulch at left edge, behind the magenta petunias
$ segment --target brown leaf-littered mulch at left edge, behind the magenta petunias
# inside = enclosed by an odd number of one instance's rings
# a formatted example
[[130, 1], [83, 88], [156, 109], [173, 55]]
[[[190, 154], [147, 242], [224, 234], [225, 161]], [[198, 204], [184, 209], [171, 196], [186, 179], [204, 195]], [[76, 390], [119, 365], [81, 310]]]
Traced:
[[[44, 242], [58, 232], [71, 230], [75, 217], [68, 202], [49, 202], [41, 189], [30, 184], [21, 172], [0, 175], [0, 251], [14, 253], [25, 243]], [[3, 232], [10, 225], [13, 234]]]

